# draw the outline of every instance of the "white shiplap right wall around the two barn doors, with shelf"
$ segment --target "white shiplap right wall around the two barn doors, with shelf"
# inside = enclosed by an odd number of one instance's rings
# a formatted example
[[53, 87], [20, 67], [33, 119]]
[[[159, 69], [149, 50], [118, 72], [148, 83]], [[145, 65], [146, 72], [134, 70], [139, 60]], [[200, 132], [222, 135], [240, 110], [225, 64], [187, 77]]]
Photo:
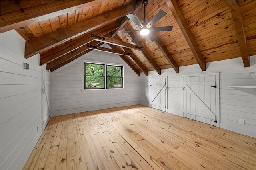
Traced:
[[[256, 86], [256, 56], [250, 57], [250, 67], [244, 68], [242, 58], [206, 63], [206, 72], [220, 72], [220, 127], [256, 137], [256, 89], [230, 88], [233, 86]], [[161, 76], [168, 76], [168, 112], [181, 115], [182, 74], [202, 73], [198, 65], [180, 67], [180, 73], [173, 69], [162, 70]], [[155, 71], [149, 76], [140, 76], [140, 104], [149, 106], [149, 78], [159, 76]], [[245, 125], [239, 124], [245, 120]]]

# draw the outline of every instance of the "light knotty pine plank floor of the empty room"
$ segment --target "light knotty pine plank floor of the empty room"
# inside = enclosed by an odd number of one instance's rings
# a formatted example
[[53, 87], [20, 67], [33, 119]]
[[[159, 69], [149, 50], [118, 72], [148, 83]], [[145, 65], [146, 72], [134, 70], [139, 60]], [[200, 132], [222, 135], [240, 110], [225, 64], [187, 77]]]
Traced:
[[142, 105], [52, 117], [24, 169], [256, 170], [256, 139]]

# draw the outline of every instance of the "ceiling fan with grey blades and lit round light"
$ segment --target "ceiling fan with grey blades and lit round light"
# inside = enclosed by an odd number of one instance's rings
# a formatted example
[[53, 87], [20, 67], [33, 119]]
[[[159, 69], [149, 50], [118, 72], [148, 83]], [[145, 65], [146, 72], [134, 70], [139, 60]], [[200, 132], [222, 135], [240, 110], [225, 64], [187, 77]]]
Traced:
[[146, 23], [146, 6], [148, 5], [148, 1], [144, 0], [142, 2], [142, 6], [144, 6], [144, 22], [140, 23], [140, 21], [133, 15], [133, 14], [128, 14], [126, 15], [130, 20], [132, 20], [136, 25], [140, 26], [140, 29], [136, 30], [127, 30], [127, 31], [119, 31], [119, 33], [131, 33], [131, 32], [140, 32], [133, 40], [132, 42], [135, 42], [138, 40], [138, 38], [142, 35], [148, 35], [151, 41], [155, 41], [156, 38], [154, 35], [150, 33], [150, 31], [172, 31], [173, 26], [167, 26], [167, 27], [155, 27], [153, 28], [152, 26], [159, 21], [161, 18], [163, 18], [167, 13], [164, 12], [163, 10], [160, 10], [156, 16], [149, 22]]

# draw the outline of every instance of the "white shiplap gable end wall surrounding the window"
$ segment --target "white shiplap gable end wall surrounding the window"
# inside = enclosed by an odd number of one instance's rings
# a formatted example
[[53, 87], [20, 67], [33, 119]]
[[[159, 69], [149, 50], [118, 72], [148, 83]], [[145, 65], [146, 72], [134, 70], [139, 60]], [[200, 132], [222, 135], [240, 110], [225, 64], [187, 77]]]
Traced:
[[[124, 89], [82, 90], [83, 60], [124, 65]], [[138, 75], [118, 55], [111, 53], [91, 51], [52, 72], [51, 78], [51, 110], [54, 116], [139, 103]]]

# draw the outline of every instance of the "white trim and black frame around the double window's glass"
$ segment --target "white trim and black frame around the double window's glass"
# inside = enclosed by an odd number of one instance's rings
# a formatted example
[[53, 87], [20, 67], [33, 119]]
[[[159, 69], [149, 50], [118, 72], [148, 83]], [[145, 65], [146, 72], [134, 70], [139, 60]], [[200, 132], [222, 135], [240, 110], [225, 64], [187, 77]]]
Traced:
[[[104, 65], [104, 88], [85, 88], [85, 63], [89, 64], [100, 64]], [[122, 68], [122, 85], [119, 88], [107, 88], [107, 65], [108, 66], [116, 66]], [[85, 92], [86, 90], [112, 90], [112, 89], [124, 89], [124, 64], [116, 64], [116, 63], [107, 63], [107, 62], [98, 62], [98, 61], [91, 61], [91, 60], [84, 60], [82, 59], [82, 92]]]

